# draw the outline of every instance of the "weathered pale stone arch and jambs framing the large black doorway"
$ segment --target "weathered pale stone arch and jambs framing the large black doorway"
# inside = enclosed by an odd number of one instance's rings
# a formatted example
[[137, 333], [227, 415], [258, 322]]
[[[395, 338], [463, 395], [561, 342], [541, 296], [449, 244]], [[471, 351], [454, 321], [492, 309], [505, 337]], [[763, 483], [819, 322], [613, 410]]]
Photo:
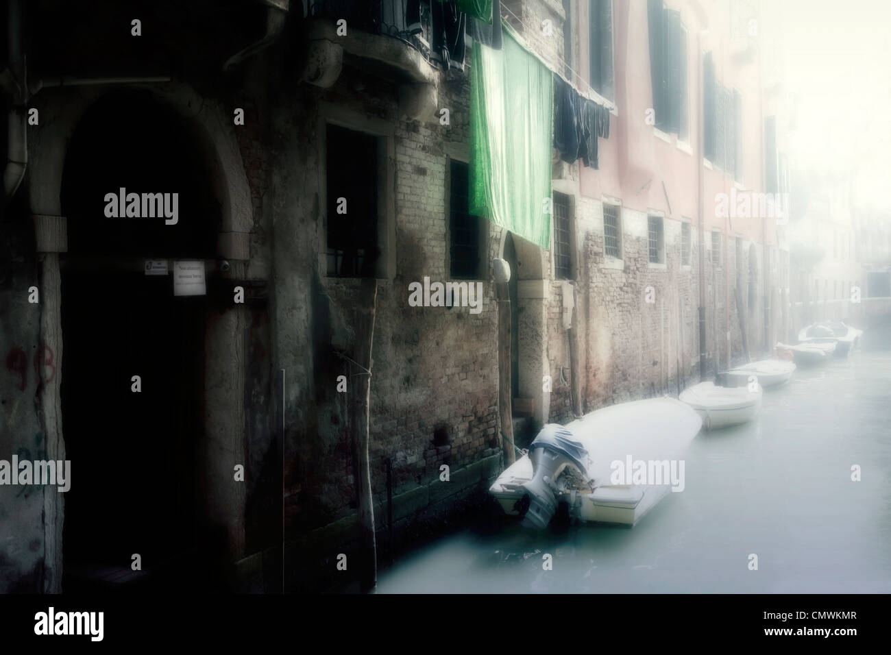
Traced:
[[[197, 94], [182, 82], [132, 85], [147, 89], [189, 121], [196, 142], [211, 172], [211, 186], [222, 210], [217, 234], [217, 256], [230, 261], [229, 276], [244, 274], [249, 262], [249, 233], [253, 225], [250, 188], [233, 133], [232, 108]], [[40, 284], [40, 339], [53, 353], [55, 370], [61, 372], [61, 274], [59, 254], [68, 251], [68, 225], [61, 212], [61, 183], [65, 156], [80, 119], [110, 86], [69, 86], [46, 88], [37, 94], [31, 107], [39, 111], [39, 124], [29, 127], [29, 208], [34, 220]], [[115, 86], [114, 88], [119, 88]], [[176, 153], [170, 153], [174, 156]], [[205, 366], [204, 448], [206, 454], [223, 451], [229, 457], [208, 458], [208, 479], [220, 484], [207, 486], [206, 512], [225, 523], [228, 550], [234, 560], [244, 551], [243, 485], [225, 486], [233, 480], [235, 463], [245, 462], [244, 432], [244, 348], [243, 327], [247, 324], [243, 306], [227, 310], [207, 325], [205, 352], [225, 364]], [[222, 378], [222, 379], [221, 379]], [[46, 367], [40, 373], [37, 411], [46, 438], [46, 457], [65, 459], [61, 423], [61, 374], [46, 380]], [[235, 399], [237, 402], [233, 402]], [[224, 459], [231, 459], [232, 463]], [[72, 463], [77, 468], [77, 463]], [[77, 475], [77, 474], [75, 474]], [[76, 478], [75, 478], [76, 480]], [[77, 484], [75, 481], [74, 484]], [[44, 487], [44, 581], [45, 593], [61, 592], [62, 526], [64, 503], [54, 487]]]

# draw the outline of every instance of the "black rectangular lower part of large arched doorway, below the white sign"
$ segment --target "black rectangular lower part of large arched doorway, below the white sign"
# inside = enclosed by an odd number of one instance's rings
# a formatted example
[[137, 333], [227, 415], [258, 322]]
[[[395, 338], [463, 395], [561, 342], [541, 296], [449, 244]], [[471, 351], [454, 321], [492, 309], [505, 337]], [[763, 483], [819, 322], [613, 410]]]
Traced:
[[61, 323], [66, 579], [109, 582], [134, 553], [157, 570], [196, 545], [203, 298], [175, 298], [167, 276], [67, 270]]

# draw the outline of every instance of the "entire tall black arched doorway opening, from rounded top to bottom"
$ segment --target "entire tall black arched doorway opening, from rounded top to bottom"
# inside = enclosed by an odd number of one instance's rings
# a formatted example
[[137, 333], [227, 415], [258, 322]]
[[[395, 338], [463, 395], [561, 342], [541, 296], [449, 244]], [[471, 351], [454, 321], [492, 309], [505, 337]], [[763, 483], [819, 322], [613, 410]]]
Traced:
[[[207, 296], [175, 296], [172, 274], [146, 273], [146, 260], [166, 261], [169, 271], [188, 259], [204, 262], [213, 279], [206, 260], [215, 257], [221, 211], [200, 153], [184, 119], [134, 91], [95, 102], [69, 144], [61, 409], [74, 481], [65, 591], [146, 578], [200, 585], [204, 569], [192, 554], [217, 548], [202, 531], [200, 489]], [[107, 195], [131, 192], [140, 194], [131, 212], [139, 216], [109, 210]], [[142, 573], [131, 568], [135, 554]]]

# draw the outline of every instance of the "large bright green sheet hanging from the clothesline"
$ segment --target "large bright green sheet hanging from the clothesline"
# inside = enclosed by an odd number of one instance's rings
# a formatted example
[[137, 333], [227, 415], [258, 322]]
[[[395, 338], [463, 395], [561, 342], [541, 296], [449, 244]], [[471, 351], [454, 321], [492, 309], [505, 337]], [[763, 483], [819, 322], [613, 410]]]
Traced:
[[507, 27], [502, 50], [474, 40], [470, 70], [470, 212], [548, 249], [552, 73]]

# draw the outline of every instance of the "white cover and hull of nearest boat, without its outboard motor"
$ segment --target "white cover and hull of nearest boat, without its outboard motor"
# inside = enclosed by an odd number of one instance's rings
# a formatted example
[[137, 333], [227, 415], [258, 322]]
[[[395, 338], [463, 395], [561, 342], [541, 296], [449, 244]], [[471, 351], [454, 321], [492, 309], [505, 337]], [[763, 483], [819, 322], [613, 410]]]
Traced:
[[[674, 398], [652, 398], [605, 407], [568, 424], [584, 444], [592, 464], [587, 475], [596, 481], [593, 491], [570, 492], [565, 502], [571, 515], [583, 522], [634, 526], [671, 485], [611, 484], [611, 464], [627, 457], [634, 460], [676, 460], [699, 433], [699, 416]], [[532, 461], [523, 455], [512, 463], [489, 488], [503, 511], [519, 515], [523, 511], [522, 485], [533, 479]]]

